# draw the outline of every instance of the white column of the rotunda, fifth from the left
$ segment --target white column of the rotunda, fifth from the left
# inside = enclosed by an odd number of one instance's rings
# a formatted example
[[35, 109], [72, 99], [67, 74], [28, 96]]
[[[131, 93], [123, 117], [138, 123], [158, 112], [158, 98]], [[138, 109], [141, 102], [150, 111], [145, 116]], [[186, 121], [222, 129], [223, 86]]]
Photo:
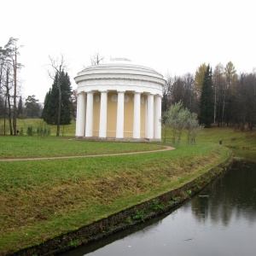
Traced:
[[141, 137], [141, 93], [134, 93], [133, 103], [133, 138]]

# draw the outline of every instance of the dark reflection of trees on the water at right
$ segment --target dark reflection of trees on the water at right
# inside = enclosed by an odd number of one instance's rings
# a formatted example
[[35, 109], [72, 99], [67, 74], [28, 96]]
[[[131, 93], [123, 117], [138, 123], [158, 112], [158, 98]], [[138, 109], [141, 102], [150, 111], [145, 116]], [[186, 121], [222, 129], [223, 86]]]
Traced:
[[[201, 196], [191, 201], [197, 221], [211, 218], [212, 222], [228, 225], [230, 219], [256, 221], [256, 164], [237, 161], [232, 172], [212, 183]], [[190, 205], [184, 206], [188, 208]]]

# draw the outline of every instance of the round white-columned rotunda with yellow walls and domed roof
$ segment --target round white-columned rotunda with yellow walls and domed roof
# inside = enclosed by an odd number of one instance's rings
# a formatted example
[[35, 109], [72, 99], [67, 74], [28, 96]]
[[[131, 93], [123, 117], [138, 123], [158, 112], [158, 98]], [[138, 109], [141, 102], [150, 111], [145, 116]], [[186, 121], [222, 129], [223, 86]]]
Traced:
[[78, 84], [76, 137], [161, 139], [165, 80], [160, 73], [115, 58], [86, 67], [74, 79]]

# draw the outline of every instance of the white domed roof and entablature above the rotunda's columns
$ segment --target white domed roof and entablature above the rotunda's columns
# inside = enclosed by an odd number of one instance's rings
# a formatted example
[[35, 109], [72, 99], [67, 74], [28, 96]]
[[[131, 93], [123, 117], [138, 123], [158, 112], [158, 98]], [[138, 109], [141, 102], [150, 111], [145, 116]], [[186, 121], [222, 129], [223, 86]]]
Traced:
[[126, 62], [86, 67], [74, 80], [78, 84], [78, 92], [124, 90], [154, 95], [162, 95], [166, 83], [153, 68]]

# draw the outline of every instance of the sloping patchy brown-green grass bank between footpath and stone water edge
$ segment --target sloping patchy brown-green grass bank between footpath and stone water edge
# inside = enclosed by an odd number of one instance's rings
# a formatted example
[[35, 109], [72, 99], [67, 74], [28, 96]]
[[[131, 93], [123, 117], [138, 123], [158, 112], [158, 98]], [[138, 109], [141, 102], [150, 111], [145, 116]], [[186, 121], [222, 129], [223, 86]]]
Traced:
[[221, 145], [199, 143], [147, 154], [2, 162], [0, 252], [44, 244], [153, 200], [229, 155]]

